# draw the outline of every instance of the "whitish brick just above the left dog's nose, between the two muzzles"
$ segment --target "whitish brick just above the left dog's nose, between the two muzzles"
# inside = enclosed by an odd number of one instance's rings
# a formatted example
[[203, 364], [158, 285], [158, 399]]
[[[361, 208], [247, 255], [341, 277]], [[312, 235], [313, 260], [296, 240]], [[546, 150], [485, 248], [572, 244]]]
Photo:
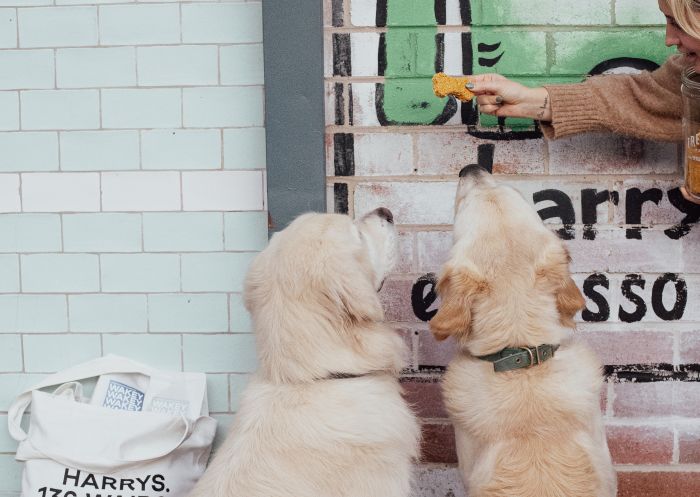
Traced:
[[456, 190], [456, 181], [362, 183], [355, 187], [355, 212], [383, 205], [397, 224], [452, 224]]

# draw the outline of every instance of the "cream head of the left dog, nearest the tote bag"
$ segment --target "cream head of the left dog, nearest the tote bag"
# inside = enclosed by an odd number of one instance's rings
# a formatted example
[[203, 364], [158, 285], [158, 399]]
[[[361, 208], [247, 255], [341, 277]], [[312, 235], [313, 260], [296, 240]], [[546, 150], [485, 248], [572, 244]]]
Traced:
[[353, 369], [347, 363], [362, 348], [362, 330], [384, 318], [377, 292], [396, 243], [385, 208], [357, 221], [305, 214], [275, 234], [245, 284], [261, 370], [298, 381]]

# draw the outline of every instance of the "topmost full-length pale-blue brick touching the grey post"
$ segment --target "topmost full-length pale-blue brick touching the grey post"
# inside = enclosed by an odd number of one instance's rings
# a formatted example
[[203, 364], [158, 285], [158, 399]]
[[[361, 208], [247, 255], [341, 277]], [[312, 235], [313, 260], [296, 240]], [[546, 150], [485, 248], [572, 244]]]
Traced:
[[183, 4], [182, 41], [262, 42], [262, 3]]

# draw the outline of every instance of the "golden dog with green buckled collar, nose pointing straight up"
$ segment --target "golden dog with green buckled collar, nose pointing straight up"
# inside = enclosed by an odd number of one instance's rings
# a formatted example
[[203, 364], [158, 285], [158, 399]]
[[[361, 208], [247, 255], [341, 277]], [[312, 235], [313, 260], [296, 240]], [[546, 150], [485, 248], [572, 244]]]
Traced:
[[470, 497], [613, 497], [601, 365], [573, 336], [569, 254], [514, 189], [460, 172], [430, 322], [459, 347], [443, 381]]

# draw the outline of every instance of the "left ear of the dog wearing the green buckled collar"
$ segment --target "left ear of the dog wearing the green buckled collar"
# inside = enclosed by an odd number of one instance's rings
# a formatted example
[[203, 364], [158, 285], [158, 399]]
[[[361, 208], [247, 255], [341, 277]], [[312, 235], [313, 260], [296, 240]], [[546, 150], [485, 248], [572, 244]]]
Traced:
[[430, 320], [435, 338], [445, 340], [450, 335], [469, 333], [474, 298], [485, 291], [485, 282], [470, 269], [447, 266], [437, 284], [442, 304]]

